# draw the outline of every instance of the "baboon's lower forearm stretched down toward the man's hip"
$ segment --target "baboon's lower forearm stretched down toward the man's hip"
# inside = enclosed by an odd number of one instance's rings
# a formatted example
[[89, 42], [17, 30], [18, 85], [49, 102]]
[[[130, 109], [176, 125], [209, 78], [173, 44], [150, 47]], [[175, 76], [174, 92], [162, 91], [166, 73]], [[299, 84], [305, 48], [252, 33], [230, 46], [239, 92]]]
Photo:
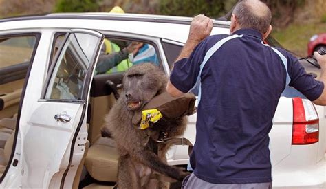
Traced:
[[182, 181], [184, 177], [188, 175], [188, 173], [183, 172], [180, 168], [164, 164], [155, 153], [149, 150], [145, 149], [144, 151], [135, 152], [132, 156], [138, 162], [148, 166], [152, 170], [167, 175], [173, 179], [177, 179], [178, 181]]

